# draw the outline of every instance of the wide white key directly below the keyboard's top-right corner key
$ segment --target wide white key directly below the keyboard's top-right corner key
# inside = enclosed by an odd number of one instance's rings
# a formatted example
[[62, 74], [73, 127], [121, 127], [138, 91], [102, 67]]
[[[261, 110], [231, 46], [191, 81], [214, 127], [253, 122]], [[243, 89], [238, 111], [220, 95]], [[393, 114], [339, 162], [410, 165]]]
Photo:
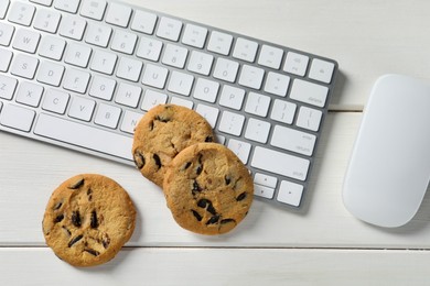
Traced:
[[316, 107], [324, 107], [329, 88], [313, 82], [295, 79], [292, 84], [290, 98]]

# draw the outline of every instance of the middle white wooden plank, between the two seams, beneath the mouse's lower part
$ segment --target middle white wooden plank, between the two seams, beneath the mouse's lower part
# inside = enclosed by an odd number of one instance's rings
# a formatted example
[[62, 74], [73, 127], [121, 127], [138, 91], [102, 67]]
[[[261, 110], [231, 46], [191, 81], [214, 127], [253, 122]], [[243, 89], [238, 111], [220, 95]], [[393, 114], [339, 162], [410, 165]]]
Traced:
[[0, 245], [43, 245], [41, 221], [52, 190], [75, 174], [99, 173], [121, 184], [136, 204], [139, 219], [129, 245], [430, 248], [429, 196], [411, 223], [394, 230], [362, 223], [345, 210], [342, 183], [361, 118], [354, 112], [327, 117], [303, 210], [256, 200], [244, 222], [221, 237], [181, 229], [161, 189], [132, 167], [0, 133]]

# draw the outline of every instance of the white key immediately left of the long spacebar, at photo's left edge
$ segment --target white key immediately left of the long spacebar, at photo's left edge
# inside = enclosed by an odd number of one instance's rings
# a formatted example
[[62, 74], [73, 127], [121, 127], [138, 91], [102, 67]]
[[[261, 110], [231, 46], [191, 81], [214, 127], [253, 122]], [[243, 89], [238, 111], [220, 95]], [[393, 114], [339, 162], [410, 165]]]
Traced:
[[35, 112], [14, 105], [4, 105], [0, 113], [0, 124], [3, 127], [29, 132], [33, 125]]

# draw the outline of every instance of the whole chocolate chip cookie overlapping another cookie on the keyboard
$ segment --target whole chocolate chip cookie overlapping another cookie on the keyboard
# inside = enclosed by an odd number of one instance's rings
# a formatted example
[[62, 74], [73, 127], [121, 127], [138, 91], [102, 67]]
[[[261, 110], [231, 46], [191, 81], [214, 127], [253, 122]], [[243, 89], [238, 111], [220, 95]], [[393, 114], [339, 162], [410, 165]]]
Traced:
[[183, 150], [168, 166], [164, 196], [174, 220], [201, 234], [234, 229], [248, 213], [252, 178], [229, 148], [198, 143]]

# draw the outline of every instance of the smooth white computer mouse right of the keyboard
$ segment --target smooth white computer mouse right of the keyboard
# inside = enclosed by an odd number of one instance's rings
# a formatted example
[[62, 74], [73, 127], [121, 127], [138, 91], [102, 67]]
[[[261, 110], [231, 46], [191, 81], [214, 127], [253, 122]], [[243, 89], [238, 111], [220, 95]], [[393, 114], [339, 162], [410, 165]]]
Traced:
[[400, 227], [416, 215], [429, 180], [430, 85], [383, 76], [364, 110], [344, 180], [344, 205], [368, 223]]

